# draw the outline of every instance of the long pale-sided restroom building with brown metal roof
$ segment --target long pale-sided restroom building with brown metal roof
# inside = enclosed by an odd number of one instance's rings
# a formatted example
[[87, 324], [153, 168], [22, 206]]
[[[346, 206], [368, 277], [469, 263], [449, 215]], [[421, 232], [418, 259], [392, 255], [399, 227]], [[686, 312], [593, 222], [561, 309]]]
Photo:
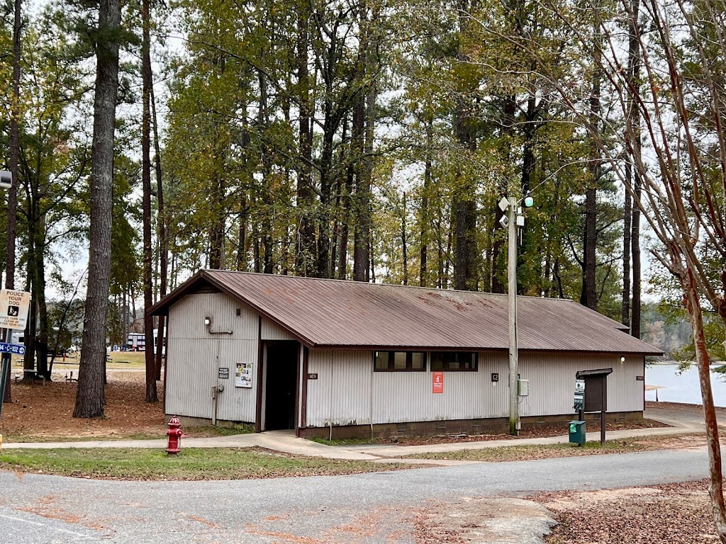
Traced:
[[[524, 427], [571, 419], [596, 368], [608, 418], [642, 418], [660, 350], [571, 300], [518, 306]], [[168, 316], [167, 414], [306, 437], [507, 428], [506, 295], [200, 271], [150, 312]]]

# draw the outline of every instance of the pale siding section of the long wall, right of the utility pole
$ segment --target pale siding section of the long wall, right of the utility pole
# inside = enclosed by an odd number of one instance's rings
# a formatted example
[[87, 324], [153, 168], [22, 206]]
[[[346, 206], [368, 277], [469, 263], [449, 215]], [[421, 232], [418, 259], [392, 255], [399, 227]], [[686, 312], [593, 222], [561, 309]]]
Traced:
[[[608, 411], [642, 411], [643, 357], [620, 355], [527, 353], [520, 356], [522, 379], [529, 379], [529, 396], [520, 398], [521, 416], [574, 414], [575, 374], [581, 370], [612, 368], [608, 376]], [[508, 372], [507, 372], [508, 376]]]

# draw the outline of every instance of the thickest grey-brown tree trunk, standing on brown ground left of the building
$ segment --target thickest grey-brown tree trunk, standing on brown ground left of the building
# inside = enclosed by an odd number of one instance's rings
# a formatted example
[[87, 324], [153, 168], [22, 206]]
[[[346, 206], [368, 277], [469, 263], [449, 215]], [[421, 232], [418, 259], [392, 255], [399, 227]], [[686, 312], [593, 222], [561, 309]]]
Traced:
[[111, 270], [113, 136], [118, 91], [119, 0], [99, 1], [94, 135], [91, 150], [91, 228], [83, 346], [73, 417], [103, 416], [103, 369], [106, 360], [106, 313]]

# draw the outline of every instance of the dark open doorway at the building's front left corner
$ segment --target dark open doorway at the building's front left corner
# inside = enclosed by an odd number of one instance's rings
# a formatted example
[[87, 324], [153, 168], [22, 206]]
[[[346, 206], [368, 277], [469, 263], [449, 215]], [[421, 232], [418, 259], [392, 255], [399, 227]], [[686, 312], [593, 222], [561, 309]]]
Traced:
[[274, 342], [266, 346], [266, 431], [295, 429], [298, 346], [298, 342]]

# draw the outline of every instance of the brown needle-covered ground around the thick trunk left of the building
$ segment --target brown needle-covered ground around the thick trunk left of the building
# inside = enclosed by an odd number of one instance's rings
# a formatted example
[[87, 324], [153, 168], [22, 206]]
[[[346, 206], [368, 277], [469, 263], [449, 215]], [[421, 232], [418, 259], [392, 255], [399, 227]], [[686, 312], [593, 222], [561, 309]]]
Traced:
[[[73, 418], [76, 382], [66, 382], [65, 374], [67, 371], [54, 372], [55, 381], [45, 385], [12, 384], [13, 402], [3, 406], [0, 424], [6, 442], [44, 437], [164, 437], [163, 404], [144, 402], [144, 371], [108, 371], [107, 404], [102, 419]], [[161, 399], [160, 382], [158, 390]]]

